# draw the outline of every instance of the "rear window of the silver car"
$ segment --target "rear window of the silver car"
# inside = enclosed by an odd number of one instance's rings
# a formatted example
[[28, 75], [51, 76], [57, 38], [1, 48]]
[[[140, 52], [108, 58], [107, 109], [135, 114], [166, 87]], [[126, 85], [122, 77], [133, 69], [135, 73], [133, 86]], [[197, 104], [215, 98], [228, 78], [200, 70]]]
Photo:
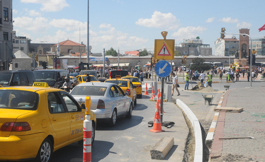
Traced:
[[106, 92], [106, 86], [77, 86], [71, 91], [71, 95], [83, 95], [83, 96], [104, 96]]

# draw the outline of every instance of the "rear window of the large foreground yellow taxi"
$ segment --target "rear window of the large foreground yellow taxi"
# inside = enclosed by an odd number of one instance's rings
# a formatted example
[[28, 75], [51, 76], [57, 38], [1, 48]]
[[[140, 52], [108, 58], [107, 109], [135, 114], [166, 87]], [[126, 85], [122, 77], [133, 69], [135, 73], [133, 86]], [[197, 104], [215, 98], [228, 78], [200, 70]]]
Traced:
[[38, 101], [35, 92], [0, 89], [0, 108], [35, 110]]

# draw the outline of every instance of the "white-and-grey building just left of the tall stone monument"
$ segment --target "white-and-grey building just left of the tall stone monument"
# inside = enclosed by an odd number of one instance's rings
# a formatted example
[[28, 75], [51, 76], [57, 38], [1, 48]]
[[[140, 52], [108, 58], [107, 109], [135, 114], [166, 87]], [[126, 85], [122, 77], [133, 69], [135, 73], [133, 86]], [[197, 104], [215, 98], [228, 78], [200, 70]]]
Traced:
[[233, 36], [232, 38], [218, 38], [215, 42], [215, 55], [229, 56], [234, 55], [239, 49], [239, 40]]

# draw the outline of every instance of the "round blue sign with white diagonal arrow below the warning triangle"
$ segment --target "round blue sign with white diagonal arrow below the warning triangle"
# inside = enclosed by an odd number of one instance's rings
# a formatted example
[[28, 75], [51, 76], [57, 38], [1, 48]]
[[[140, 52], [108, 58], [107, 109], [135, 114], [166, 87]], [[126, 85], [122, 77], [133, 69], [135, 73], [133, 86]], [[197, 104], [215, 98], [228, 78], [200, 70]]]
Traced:
[[156, 64], [155, 71], [159, 77], [167, 77], [171, 73], [171, 65], [167, 61], [161, 60]]

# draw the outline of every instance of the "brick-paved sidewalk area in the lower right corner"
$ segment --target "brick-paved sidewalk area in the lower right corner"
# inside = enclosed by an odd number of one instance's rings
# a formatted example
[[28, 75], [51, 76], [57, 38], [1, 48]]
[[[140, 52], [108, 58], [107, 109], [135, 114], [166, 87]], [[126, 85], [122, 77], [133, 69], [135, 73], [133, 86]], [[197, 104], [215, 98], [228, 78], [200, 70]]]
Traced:
[[[224, 160], [223, 157], [226, 157], [226, 162], [235, 162], [234, 159], [227, 157], [237, 157], [239, 162], [245, 161], [246, 158], [264, 162], [265, 110], [262, 101], [264, 101], [265, 87], [237, 88], [228, 92], [230, 93], [224, 96], [222, 107], [243, 108], [243, 111], [220, 112], [210, 154], [211, 162], [221, 162]], [[220, 127], [223, 123], [224, 126]], [[245, 136], [252, 136], [255, 139], [218, 139]], [[220, 155], [221, 157], [217, 158]]]

